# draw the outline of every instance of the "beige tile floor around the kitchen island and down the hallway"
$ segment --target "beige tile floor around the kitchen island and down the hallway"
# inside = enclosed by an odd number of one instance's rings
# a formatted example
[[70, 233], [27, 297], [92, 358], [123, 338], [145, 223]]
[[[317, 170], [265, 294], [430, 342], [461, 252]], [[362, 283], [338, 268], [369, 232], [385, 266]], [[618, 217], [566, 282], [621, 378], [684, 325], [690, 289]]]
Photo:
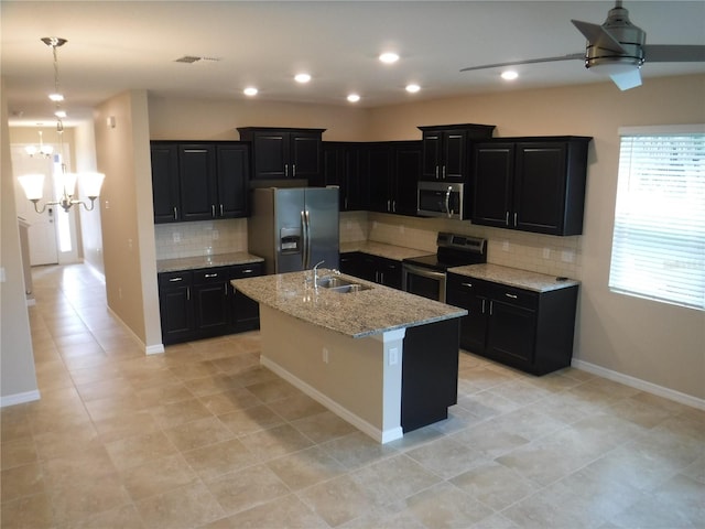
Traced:
[[451, 418], [380, 445], [260, 368], [258, 333], [144, 356], [84, 266], [33, 276], [3, 529], [705, 527], [703, 411], [463, 353]]

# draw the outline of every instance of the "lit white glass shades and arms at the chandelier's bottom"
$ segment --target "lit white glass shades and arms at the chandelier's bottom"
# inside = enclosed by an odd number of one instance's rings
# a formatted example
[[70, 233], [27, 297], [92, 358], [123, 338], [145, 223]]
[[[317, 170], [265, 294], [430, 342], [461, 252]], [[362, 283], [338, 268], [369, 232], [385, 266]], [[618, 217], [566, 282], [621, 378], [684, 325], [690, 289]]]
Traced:
[[[41, 208], [39, 206], [39, 202], [42, 199], [42, 193], [44, 190], [44, 175], [41, 173], [25, 174], [20, 176], [18, 180], [24, 190], [24, 195], [28, 201], [34, 204], [34, 210], [36, 213], [44, 213], [47, 206], [58, 205], [65, 212], [68, 212], [73, 206], [80, 204], [86, 208], [86, 210], [91, 212], [96, 198], [100, 195], [100, 187], [102, 186], [102, 181], [106, 177], [102, 173], [65, 173], [62, 171], [61, 173], [61, 187], [62, 187], [62, 196], [58, 201], [46, 202]], [[76, 181], [80, 180], [80, 185], [84, 188], [84, 193], [90, 199], [90, 204], [86, 204], [83, 201], [74, 198], [76, 194]]]

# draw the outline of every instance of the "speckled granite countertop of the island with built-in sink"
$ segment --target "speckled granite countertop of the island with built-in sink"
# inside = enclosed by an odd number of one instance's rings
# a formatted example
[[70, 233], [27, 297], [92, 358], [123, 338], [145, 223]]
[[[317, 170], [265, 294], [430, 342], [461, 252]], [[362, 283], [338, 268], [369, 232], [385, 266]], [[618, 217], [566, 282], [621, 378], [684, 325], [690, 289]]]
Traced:
[[[323, 278], [329, 272], [321, 269], [318, 277]], [[321, 287], [314, 289], [311, 282], [306, 282], [306, 279], [311, 278], [311, 271], [236, 279], [231, 283], [259, 303], [312, 325], [354, 338], [467, 314], [464, 309], [370, 283], [351, 276], [337, 277], [371, 287], [371, 289], [351, 293], [333, 292]]]

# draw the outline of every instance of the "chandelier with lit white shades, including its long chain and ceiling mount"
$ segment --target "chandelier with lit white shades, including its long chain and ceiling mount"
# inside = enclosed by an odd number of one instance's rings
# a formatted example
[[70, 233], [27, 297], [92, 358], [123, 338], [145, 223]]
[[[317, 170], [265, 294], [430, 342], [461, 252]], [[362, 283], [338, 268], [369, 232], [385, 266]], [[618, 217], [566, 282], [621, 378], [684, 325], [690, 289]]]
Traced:
[[[59, 154], [61, 159], [61, 170], [59, 170], [59, 183], [62, 188], [62, 195], [58, 201], [46, 202], [42, 208], [39, 207], [39, 202], [42, 199], [42, 193], [44, 190], [44, 175], [41, 173], [35, 174], [25, 174], [20, 176], [18, 180], [24, 190], [24, 194], [26, 195], [28, 201], [34, 204], [34, 210], [36, 213], [44, 213], [46, 206], [59, 205], [64, 208], [65, 212], [68, 212], [72, 206], [76, 204], [82, 204], [86, 210], [91, 212], [96, 198], [100, 195], [100, 187], [102, 186], [102, 181], [105, 179], [105, 174], [102, 173], [82, 173], [77, 175], [76, 173], [66, 172], [66, 164], [63, 160], [64, 153], [64, 121], [63, 119], [66, 117], [66, 111], [62, 108], [62, 102], [64, 101], [64, 96], [59, 90], [58, 85], [58, 58], [56, 56], [56, 48], [66, 44], [66, 39], [62, 39], [58, 36], [45, 36], [42, 39], [42, 42], [52, 48], [52, 54], [54, 55], [54, 93], [50, 94], [48, 98], [54, 102], [54, 116], [56, 117], [56, 132], [58, 133], [58, 142], [59, 142]], [[42, 132], [40, 131], [40, 152], [42, 151]], [[47, 145], [51, 149], [51, 145]], [[51, 156], [52, 150], [48, 151], [46, 156]], [[29, 150], [28, 150], [29, 152]], [[32, 154], [31, 154], [32, 155]], [[86, 204], [83, 201], [74, 198], [76, 194], [76, 181], [80, 180], [84, 192], [90, 199], [90, 204]]]

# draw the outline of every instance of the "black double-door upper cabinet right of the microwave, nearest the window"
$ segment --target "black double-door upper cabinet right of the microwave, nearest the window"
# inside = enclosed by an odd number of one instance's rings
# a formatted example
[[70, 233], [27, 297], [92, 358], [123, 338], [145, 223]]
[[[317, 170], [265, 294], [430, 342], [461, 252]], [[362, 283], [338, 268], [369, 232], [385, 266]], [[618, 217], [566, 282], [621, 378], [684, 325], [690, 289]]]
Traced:
[[473, 223], [581, 235], [592, 138], [501, 138], [474, 145]]

